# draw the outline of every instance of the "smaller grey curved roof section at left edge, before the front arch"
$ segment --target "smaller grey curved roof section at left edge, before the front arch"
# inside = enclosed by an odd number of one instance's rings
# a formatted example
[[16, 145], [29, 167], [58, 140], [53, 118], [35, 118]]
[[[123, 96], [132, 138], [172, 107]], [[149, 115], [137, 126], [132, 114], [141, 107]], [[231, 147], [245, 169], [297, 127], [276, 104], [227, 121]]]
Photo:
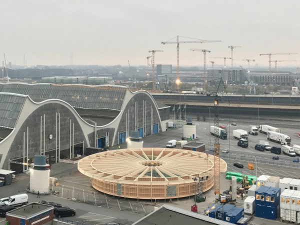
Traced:
[[14, 128], [25, 100], [25, 95], [0, 93], [0, 127]]

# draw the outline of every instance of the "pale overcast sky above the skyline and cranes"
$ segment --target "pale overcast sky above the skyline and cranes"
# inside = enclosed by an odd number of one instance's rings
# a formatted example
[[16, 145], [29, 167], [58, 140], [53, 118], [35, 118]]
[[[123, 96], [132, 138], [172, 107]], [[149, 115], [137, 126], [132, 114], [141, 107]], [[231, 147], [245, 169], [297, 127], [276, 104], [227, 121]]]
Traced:
[[[176, 64], [176, 45], [161, 44], [176, 35], [216, 43], [180, 45], [180, 65], [202, 65], [202, 52], [210, 56], [255, 59], [267, 65], [267, 52], [297, 52], [273, 55], [272, 59], [296, 59], [300, 63], [299, 0], [7, 0], [1, 2], [0, 51], [6, 62], [23, 64], [132, 65], [146, 64], [148, 50], [155, 63]], [[179, 40], [187, 40], [181, 38]], [[0, 60], [3, 60], [2, 52]], [[222, 64], [222, 59], [213, 59]], [[230, 61], [228, 60], [229, 64]], [[235, 61], [245, 64], [244, 61]]]

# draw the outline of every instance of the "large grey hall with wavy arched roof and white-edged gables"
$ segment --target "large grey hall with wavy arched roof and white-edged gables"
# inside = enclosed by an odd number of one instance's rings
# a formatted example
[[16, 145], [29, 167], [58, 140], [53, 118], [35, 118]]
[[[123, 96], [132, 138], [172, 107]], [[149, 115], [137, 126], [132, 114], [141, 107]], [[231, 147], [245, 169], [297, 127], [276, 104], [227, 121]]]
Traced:
[[168, 116], [169, 106], [125, 86], [0, 83], [0, 168], [21, 171], [35, 154], [70, 159], [124, 143], [130, 130], [159, 133]]

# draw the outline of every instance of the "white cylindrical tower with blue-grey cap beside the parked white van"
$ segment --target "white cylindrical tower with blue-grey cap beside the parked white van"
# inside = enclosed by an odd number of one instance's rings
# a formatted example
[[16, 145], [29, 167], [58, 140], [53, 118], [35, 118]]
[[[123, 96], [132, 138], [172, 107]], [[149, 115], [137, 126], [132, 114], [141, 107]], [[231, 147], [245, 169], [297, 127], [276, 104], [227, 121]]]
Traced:
[[44, 155], [34, 155], [34, 163], [31, 163], [30, 168], [30, 191], [49, 192], [50, 170], [46, 166], [49, 166], [49, 164], [46, 164]]

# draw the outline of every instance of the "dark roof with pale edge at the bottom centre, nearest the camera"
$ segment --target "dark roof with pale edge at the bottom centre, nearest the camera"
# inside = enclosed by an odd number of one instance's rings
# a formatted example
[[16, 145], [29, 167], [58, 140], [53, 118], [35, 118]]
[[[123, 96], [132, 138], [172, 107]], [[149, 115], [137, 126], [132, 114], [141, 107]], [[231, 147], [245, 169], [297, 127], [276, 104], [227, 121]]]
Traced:
[[220, 225], [232, 225], [232, 223], [222, 221], [219, 219], [211, 218], [203, 214], [188, 211], [182, 208], [178, 208], [172, 205], [164, 204], [157, 210], [152, 211], [143, 218], [137, 220], [132, 225], [208, 225], [208, 224], [220, 224]]

